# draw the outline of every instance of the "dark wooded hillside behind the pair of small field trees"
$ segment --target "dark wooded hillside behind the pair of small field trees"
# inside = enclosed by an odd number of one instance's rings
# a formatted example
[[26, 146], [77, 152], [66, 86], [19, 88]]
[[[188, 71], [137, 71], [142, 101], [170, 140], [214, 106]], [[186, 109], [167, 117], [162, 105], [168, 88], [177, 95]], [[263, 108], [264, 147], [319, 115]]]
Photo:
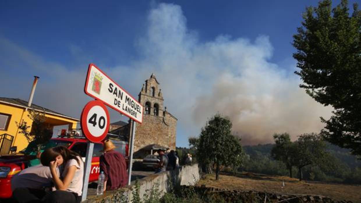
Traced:
[[[288, 176], [284, 164], [271, 158], [273, 146], [274, 144], [243, 146], [247, 156], [242, 171]], [[327, 144], [327, 148], [334, 157], [330, 160], [330, 166], [305, 167], [305, 180], [361, 184], [361, 160], [350, 154], [347, 149], [331, 144]], [[293, 175], [298, 176], [296, 168], [293, 169]]]

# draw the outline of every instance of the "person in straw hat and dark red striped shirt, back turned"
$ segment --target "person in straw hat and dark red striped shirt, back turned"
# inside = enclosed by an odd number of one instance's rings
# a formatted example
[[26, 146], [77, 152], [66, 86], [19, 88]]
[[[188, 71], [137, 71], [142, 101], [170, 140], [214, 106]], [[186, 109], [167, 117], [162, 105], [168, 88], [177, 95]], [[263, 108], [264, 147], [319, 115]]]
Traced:
[[104, 154], [100, 156], [100, 171], [103, 171], [105, 175], [104, 191], [116, 190], [128, 183], [125, 158], [121, 153], [114, 150], [115, 148], [116, 146], [112, 141], [104, 141]]

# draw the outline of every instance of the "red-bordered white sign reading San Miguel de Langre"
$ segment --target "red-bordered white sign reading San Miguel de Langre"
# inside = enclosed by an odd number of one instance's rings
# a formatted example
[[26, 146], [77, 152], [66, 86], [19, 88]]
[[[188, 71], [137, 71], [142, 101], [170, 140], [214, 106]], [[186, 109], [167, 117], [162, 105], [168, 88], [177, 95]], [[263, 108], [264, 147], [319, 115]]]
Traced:
[[84, 92], [112, 109], [142, 123], [143, 106], [94, 64], [90, 64]]

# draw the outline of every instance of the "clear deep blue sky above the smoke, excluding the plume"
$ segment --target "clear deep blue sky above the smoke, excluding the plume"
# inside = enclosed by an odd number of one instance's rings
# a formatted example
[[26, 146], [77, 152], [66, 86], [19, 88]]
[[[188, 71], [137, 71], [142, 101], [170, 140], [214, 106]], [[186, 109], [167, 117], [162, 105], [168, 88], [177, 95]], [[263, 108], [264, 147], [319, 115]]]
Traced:
[[[71, 56], [84, 54], [108, 66], [127, 64], [139, 56], [134, 44], [146, 32], [152, 6], [163, 1], [2, 1], [1, 35], [40, 56], [77, 65]], [[180, 5], [187, 26], [200, 41], [220, 34], [255, 39], [268, 35], [275, 50], [270, 61], [292, 57], [292, 35], [305, 6], [316, 1], [164, 1]]]

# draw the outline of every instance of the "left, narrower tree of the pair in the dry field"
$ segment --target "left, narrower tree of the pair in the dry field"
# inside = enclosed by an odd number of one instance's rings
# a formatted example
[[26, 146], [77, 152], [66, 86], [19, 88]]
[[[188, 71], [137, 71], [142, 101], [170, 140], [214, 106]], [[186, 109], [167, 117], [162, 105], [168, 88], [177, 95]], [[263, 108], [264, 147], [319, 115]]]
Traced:
[[292, 167], [295, 166], [294, 154], [295, 154], [295, 146], [291, 142], [290, 134], [282, 133], [282, 134], [274, 134], [273, 139], [276, 145], [271, 150], [271, 156], [275, 160], [279, 160], [283, 162], [292, 178]]

